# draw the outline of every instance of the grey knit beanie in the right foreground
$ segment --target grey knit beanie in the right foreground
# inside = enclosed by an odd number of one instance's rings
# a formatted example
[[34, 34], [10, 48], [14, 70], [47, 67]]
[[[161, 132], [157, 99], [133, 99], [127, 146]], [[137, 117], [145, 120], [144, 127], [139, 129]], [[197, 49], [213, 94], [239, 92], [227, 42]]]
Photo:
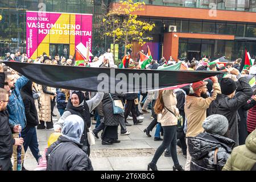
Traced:
[[213, 114], [205, 119], [202, 126], [208, 133], [223, 136], [228, 131], [229, 122], [224, 115]]

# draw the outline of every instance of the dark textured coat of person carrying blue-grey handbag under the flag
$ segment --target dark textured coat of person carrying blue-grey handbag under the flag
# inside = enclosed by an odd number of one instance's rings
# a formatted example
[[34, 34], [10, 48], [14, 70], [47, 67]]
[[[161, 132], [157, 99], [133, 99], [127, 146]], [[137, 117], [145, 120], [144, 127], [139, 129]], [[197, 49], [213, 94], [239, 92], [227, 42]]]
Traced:
[[[125, 94], [111, 94], [113, 100], [122, 100]], [[118, 126], [121, 119], [125, 119], [123, 114], [114, 114], [113, 102], [108, 93], [104, 94], [103, 100], [103, 113], [104, 113], [104, 123], [106, 126]]]

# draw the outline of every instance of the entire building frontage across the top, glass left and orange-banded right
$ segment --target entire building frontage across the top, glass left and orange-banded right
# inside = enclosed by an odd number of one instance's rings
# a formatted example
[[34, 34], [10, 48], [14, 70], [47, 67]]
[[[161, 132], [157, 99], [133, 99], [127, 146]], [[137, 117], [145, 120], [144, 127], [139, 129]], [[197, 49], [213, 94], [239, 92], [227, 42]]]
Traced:
[[[134, 0], [137, 2], [138, 0]], [[142, 2], [142, 0], [139, 0]], [[105, 0], [111, 9], [119, 0]], [[144, 0], [139, 18], [154, 22], [150, 35], [159, 52], [154, 59], [172, 56], [191, 60], [201, 56], [226, 56], [229, 60], [241, 57], [246, 46], [256, 55], [256, 0]], [[93, 55], [110, 47], [111, 39], [100, 31], [102, 1], [97, 0], [0, 0], [0, 56], [6, 52], [26, 52], [26, 11], [93, 14]], [[138, 58], [138, 45], [133, 49]], [[151, 44], [150, 44], [151, 45]], [[67, 45], [52, 46], [49, 52], [62, 55]], [[135, 47], [135, 46], [134, 46]], [[119, 59], [123, 45], [119, 44]]]

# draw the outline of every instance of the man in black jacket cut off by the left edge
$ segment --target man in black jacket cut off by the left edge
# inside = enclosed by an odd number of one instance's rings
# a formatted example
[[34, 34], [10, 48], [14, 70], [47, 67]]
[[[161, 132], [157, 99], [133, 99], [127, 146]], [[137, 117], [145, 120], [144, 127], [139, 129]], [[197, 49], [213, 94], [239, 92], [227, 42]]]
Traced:
[[9, 123], [9, 114], [6, 106], [9, 101], [9, 93], [7, 90], [0, 88], [0, 171], [11, 171], [11, 155], [13, 154], [13, 145], [22, 145], [22, 138], [13, 138], [12, 133], [18, 133], [19, 125], [11, 125]]

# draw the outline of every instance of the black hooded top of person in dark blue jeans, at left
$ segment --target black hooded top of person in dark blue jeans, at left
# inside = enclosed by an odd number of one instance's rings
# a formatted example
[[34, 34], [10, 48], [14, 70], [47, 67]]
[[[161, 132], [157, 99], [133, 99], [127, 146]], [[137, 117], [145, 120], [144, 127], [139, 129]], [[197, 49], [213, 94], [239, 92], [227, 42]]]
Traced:
[[27, 84], [23, 86], [20, 93], [22, 95], [22, 100], [25, 107], [27, 126], [38, 126], [38, 111], [36, 110], [35, 101], [32, 94], [32, 81], [28, 81]]

